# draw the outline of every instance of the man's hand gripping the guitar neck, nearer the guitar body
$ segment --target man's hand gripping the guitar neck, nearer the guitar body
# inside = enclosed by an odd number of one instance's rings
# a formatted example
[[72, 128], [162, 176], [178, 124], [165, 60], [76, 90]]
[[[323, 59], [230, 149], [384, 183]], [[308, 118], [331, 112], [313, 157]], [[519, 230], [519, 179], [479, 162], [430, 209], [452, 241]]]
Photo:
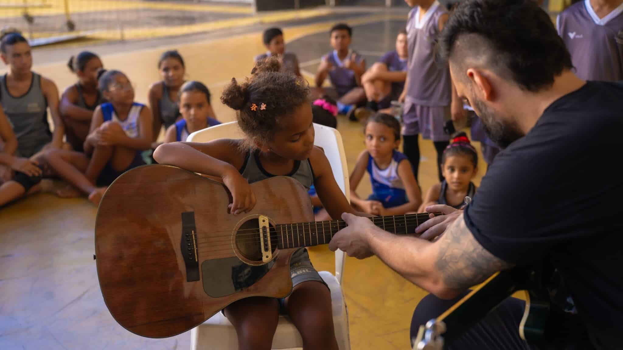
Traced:
[[365, 217], [355, 216], [350, 213], [342, 214], [342, 219], [348, 225], [345, 229], [339, 230], [331, 242], [329, 249], [333, 252], [340, 248], [349, 257], [358, 259], [368, 258], [374, 255], [370, 250], [370, 236], [377, 227]]

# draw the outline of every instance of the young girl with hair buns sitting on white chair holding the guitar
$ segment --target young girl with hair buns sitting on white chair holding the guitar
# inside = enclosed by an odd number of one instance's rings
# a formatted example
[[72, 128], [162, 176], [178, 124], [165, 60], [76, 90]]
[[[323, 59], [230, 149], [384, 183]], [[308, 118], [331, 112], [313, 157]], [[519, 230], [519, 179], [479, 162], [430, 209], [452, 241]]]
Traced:
[[[156, 149], [156, 161], [221, 177], [232, 193], [229, 209], [234, 215], [255, 206], [249, 183], [283, 175], [297, 179], [307, 189], [314, 184], [334, 219], [343, 212], [354, 212], [336, 184], [325, 154], [313, 146], [312, 105], [305, 80], [280, 72], [276, 57], [258, 62], [251, 73], [240, 85], [232, 79], [221, 97], [237, 110], [245, 139], [166, 143]], [[331, 295], [305, 248], [292, 255], [291, 274], [294, 288], [284, 300], [245, 298], [224, 310], [237, 331], [239, 349], [270, 349], [280, 307], [300, 331], [305, 349], [338, 349]]]

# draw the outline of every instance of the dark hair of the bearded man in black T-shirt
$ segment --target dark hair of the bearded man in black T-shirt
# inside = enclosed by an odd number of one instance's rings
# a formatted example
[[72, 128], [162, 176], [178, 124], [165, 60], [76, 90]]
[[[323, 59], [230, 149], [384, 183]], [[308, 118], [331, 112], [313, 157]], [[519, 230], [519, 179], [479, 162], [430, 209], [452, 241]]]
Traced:
[[573, 68], [549, 15], [534, 0], [459, 2], [439, 44], [442, 58], [457, 67], [478, 62], [531, 92]]

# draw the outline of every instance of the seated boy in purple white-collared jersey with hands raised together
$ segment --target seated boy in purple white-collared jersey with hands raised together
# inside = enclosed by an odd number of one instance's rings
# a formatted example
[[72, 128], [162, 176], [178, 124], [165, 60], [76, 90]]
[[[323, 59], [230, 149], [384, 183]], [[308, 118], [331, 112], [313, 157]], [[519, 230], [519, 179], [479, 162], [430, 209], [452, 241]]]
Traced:
[[[361, 87], [361, 75], [366, 71], [366, 60], [350, 49], [353, 29], [347, 24], [336, 24], [331, 28], [333, 51], [324, 55], [316, 72], [316, 87], [338, 102], [338, 113], [354, 118], [356, 105], [362, 105], [366, 93]], [[326, 77], [332, 88], [322, 88]]]

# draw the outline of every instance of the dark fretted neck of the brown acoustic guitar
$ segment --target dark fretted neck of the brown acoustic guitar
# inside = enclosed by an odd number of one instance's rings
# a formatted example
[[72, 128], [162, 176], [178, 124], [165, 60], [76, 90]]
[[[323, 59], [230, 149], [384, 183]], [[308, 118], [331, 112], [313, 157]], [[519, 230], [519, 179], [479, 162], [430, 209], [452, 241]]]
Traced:
[[[417, 226], [429, 219], [429, 213], [371, 217], [370, 220], [383, 230], [396, 235], [414, 234]], [[436, 215], [436, 214], [435, 214]], [[276, 225], [271, 238], [277, 238], [277, 247], [299, 248], [328, 244], [333, 236], [346, 227], [343, 220], [299, 222]]]

